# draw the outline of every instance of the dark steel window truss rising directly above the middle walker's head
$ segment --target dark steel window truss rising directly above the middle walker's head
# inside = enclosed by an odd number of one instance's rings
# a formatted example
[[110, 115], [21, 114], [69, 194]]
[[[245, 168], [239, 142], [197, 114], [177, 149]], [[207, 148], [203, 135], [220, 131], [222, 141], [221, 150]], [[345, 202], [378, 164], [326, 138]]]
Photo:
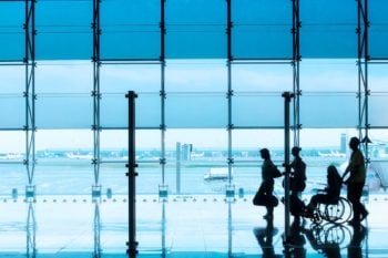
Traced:
[[300, 35], [300, 19], [299, 19], [299, 0], [293, 0], [293, 92], [295, 94], [294, 97], [294, 145], [299, 146], [299, 131], [302, 128], [300, 120], [299, 120], [299, 97], [302, 95], [300, 86], [299, 86], [299, 62], [300, 62], [300, 44], [299, 44], [299, 35]]

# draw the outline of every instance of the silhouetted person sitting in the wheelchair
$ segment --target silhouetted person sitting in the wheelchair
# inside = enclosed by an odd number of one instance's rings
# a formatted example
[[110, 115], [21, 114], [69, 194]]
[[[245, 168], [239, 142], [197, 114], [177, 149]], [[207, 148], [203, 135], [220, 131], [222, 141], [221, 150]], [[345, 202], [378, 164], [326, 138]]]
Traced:
[[307, 210], [313, 211], [318, 204], [336, 204], [339, 199], [343, 179], [334, 165], [327, 167], [327, 187], [312, 197]]

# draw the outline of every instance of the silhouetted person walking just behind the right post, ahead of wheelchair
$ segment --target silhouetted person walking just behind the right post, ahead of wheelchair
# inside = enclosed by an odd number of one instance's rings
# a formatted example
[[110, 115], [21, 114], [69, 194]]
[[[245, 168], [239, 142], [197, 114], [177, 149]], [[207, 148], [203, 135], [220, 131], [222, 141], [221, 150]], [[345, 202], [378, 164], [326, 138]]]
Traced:
[[294, 156], [294, 161], [290, 164], [293, 168], [292, 177], [290, 177], [290, 213], [294, 216], [295, 220], [300, 219], [300, 215], [305, 208], [305, 204], [303, 203], [302, 193], [306, 188], [306, 164], [302, 159], [299, 153], [300, 147], [293, 147], [292, 155]]

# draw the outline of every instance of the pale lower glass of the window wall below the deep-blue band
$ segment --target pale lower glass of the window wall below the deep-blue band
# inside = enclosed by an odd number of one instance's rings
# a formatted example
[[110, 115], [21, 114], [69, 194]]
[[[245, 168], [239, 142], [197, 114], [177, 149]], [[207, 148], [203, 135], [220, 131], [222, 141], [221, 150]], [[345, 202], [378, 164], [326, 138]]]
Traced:
[[[40, 64], [42, 63], [42, 64]], [[384, 65], [371, 75], [376, 97], [385, 100]], [[19, 79], [19, 66], [1, 66], [4, 78]], [[377, 66], [378, 69], [378, 66]], [[92, 68], [89, 62], [39, 62], [37, 65], [37, 134], [35, 185], [39, 194], [90, 194], [93, 185]], [[232, 184], [236, 190], [252, 194], [259, 184], [258, 148], [268, 147], [278, 166], [284, 161], [284, 99], [282, 92], [290, 90], [289, 64], [236, 64], [232, 70], [232, 165], [227, 178], [208, 180], [206, 174], [214, 167], [227, 172], [227, 74], [225, 60], [167, 61], [164, 156], [162, 173], [161, 97], [159, 65], [102, 65], [101, 121], [101, 184], [103, 192], [126, 194], [125, 163], [127, 158], [126, 85], [137, 92], [136, 161], [139, 194], [157, 194], [161, 185], [171, 194], [224, 194]], [[300, 146], [309, 166], [312, 188], [325, 180], [325, 167], [331, 163], [343, 166], [347, 162], [347, 140], [357, 131], [357, 65], [355, 60], [304, 60], [300, 89]], [[323, 72], [324, 71], [324, 72]], [[371, 71], [374, 71], [371, 69]], [[72, 76], [69, 76], [71, 74]], [[58, 80], [59, 79], [59, 80]], [[58, 80], [58, 81], [57, 81]], [[268, 83], [266, 83], [268, 82]], [[23, 84], [21, 81], [10, 83]], [[42, 86], [40, 86], [42, 85]], [[69, 85], [74, 85], [69, 87]], [[327, 86], [326, 86], [327, 85]], [[9, 89], [9, 90], [7, 90]], [[20, 113], [16, 118], [2, 112], [2, 195], [12, 188], [23, 193], [25, 187], [23, 87], [4, 87], [3, 99], [16, 95], [12, 107]], [[20, 91], [20, 92], [18, 92]], [[7, 103], [7, 102], [6, 102]], [[71, 105], [63, 104], [71, 103]], [[13, 109], [13, 106], [16, 106]], [[376, 107], [375, 107], [376, 109]], [[382, 107], [377, 107], [382, 109]], [[375, 112], [371, 112], [375, 113]], [[377, 113], [377, 112], [376, 112]], [[375, 114], [376, 114], [375, 113]], [[76, 116], [74, 116], [76, 114]], [[381, 117], [384, 118], [384, 117]], [[384, 126], [381, 120], [376, 127]], [[9, 128], [18, 128], [11, 131]], [[345, 137], [345, 140], [344, 140]], [[384, 128], [370, 130], [371, 161], [385, 159]], [[344, 142], [345, 141], [345, 142]], [[381, 141], [379, 143], [378, 141]], [[378, 145], [378, 143], [380, 145]], [[177, 161], [177, 147], [180, 156]], [[345, 144], [345, 146], [344, 146]], [[177, 175], [180, 173], [180, 175]], [[225, 175], [224, 175], [225, 176]], [[78, 178], [74, 184], [74, 178]], [[11, 184], [9, 184], [11, 183]], [[374, 183], [376, 184], [376, 183]], [[72, 187], [69, 187], [72, 186]], [[277, 185], [282, 192], [282, 186]], [[375, 192], [380, 189], [374, 188]]]

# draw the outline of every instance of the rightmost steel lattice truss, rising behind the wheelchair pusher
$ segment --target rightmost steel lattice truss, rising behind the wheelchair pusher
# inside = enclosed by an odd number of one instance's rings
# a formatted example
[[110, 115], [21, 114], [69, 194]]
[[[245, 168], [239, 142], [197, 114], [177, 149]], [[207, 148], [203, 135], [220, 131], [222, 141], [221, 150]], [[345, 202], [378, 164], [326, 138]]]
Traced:
[[370, 128], [368, 117], [368, 97], [370, 95], [368, 87], [368, 62], [370, 60], [368, 52], [368, 0], [357, 0], [358, 130], [367, 164], [369, 164], [368, 143], [370, 143], [368, 132]]

